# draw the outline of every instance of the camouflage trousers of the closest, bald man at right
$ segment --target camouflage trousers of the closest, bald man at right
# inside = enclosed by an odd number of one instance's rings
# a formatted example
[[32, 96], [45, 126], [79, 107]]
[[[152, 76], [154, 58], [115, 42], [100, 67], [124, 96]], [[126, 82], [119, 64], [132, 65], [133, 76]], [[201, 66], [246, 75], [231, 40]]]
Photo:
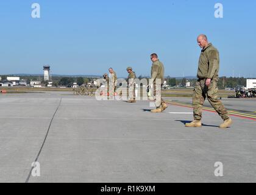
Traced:
[[229, 119], [229, 114], [222, 102], [218, 99], [218, 87], [217, 80], [212, 80], [209, 87], [205, 85], [205, 80], [198, 80], [193, 91], [193, 108], [194, 108], [194, 119], [202, 119], [202, 107], [205, 99], [207, 98], [216, 112], [221, 116], [223, 120]]

